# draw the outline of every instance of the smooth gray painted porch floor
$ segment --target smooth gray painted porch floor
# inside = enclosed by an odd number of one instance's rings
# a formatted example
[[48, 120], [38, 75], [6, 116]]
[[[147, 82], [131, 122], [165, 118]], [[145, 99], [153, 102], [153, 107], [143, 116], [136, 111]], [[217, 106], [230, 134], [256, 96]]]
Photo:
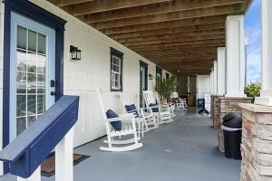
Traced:
[[[143, 147], [131, 152], [103, 152], [102, 139], [75, 148], [75, 153], [92, 157], [74, 167], [74, 181], [238, 181], [241, 162], [219, 153], [217, 130], [209, 118], [195, 112], [190, 109], [146, 133]], [[54, 176], [42, 180], [53, 181]]]

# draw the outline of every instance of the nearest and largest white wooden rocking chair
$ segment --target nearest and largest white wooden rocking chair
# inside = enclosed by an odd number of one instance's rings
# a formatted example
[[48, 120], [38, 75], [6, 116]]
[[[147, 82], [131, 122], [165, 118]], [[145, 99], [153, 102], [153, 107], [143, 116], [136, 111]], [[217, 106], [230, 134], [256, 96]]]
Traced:
[[[108, 148], [101, 147], [100, 149], [103, 151], [113, 151], [113, 152], [121, 152], [121, 151], [131, 151], [133, 149], [141, 148], [142, 143], [138, 141], [140, 138], [137, 136], [136, 124], [135, 124], [135, 116], [133, 114], [125, 114], [121, 115], [119, 118], [108, 119], [106, 116], [106, 111], [104, 108], [104, 104], [102, 101], [102, 90], [97, 88], [98, 99], [101, 104], [102, 116], [106, 124], [107, 131], [107, 140], [104, 140], [104, 143], [109, 144]], [[112, 128], [111, 122], [121, 120], [122, 129], [120, 131]], [[129, 139], [121, 139], [122, 136], [132, 135], [133, 138]], [[115, 138], [119, 138], [116, 139]], [[129, 145], [130, 144], [130, 145]], [[113, 147], [112, 145], [119, 145], [120, 147]], [[129, 146], [123, 146], [129, 145]]]

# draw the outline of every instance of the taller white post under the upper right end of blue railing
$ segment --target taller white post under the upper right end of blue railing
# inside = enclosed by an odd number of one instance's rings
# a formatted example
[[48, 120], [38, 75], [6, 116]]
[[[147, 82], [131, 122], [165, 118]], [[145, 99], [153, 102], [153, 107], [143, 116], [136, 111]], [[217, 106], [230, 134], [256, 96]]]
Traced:
[[55, 181], [73, 181], [73, 128], [55, 148]]

